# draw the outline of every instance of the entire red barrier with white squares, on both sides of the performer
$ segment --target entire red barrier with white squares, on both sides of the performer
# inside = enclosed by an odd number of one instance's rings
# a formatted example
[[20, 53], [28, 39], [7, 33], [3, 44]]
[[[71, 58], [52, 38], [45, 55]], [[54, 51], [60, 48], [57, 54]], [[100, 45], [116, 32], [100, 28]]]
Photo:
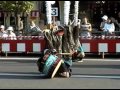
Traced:
[[[80, 37], [84, 52], [120, 52], [120, 36]], [[0, 40], [2, 52], [41, 52], [46, 48], [44, 36], [17, 36], [17, 40]]]

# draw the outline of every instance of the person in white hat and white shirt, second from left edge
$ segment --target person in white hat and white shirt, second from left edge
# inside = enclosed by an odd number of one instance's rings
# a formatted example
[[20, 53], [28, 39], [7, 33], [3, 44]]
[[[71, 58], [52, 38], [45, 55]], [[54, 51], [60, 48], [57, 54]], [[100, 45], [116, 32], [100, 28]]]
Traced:
[[7, 40], [17, 40], [16, 34], [13, 32], [13, 27], [8, 27], [7, 28], [7, 33], [3, 35], [4, 39]]

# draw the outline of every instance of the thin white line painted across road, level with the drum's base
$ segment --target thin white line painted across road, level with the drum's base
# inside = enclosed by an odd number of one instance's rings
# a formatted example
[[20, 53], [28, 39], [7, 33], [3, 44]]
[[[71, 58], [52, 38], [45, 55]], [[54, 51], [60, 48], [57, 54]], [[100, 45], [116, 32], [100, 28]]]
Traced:
[[[44, 76], [44, 74], [17, 74], [17, 73], [0, 73], [0, 76]], [[114, 79], [120, 79], [120, 76], [98, 76], [98, 75], [75, 75], [73, 74], [71, 78], [114, 78]]]

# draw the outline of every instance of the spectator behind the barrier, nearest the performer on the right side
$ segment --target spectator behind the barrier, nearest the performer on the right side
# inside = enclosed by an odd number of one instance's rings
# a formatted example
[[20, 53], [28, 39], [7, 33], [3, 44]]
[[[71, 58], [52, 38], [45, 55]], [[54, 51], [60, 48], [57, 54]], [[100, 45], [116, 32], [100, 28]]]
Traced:
[[88, 18], [84, 17], [80, 25], [80, 36], [91, 37], [92, 25], [88, 22]]

